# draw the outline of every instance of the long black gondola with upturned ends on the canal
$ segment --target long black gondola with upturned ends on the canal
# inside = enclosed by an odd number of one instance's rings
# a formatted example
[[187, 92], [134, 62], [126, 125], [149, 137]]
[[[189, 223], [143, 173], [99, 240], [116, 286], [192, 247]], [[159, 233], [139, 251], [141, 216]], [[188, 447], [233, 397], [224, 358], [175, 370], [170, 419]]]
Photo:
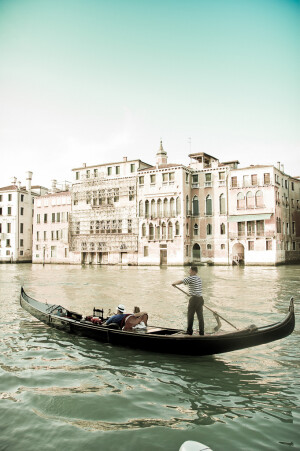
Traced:
[[[293, 298], [290, 300], [288, 314], [280, 322], [263, 327], [250, 326], [235, 332], [218, 332], [202, 336], [185, 335], [180, 329], [153, 326], [129, 331], [112, 329], [82, 319], [78, 313], [70, 312], [59, 305], [36, 301], [25, 293], [23, 287], [20, 304], [35, 318], [65, 332], [113, 345], [171, 354], [204, 356], [236, 351], [280, 340], [290, 335], [295, 327]], [[59, 308], [64, 311], [65, 316], [58, 316]]]

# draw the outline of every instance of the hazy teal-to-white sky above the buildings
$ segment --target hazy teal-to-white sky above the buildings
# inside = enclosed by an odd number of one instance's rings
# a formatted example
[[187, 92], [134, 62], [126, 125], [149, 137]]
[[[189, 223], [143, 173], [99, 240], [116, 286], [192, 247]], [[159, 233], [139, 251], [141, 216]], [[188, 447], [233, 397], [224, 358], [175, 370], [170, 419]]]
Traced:
[[300, 175], [299, 35], [299, 0], [0, 0], [0, 186], [160, 139]]

